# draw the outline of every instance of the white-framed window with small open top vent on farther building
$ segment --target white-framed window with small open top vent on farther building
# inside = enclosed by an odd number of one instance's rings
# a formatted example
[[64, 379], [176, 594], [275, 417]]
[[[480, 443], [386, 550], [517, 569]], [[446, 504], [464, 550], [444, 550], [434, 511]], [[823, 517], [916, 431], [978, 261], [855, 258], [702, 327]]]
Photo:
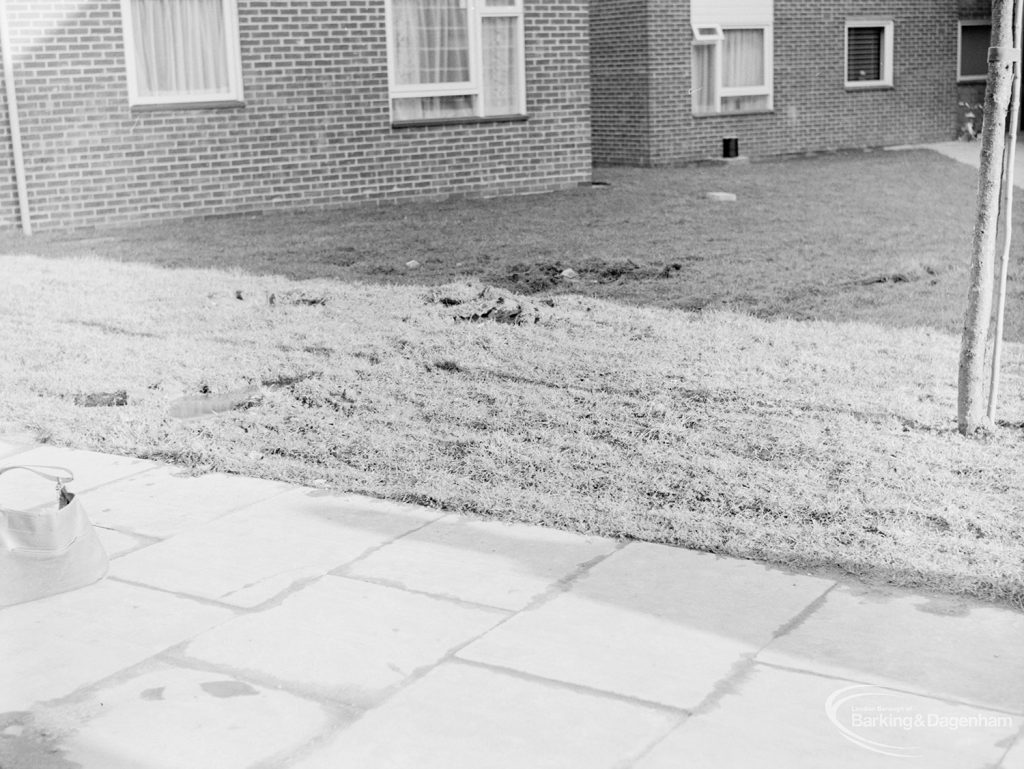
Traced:
[[701, 29], [693, 35], [693, 114], [771, 110], [771, 27], [723, 27], [711, 41]]

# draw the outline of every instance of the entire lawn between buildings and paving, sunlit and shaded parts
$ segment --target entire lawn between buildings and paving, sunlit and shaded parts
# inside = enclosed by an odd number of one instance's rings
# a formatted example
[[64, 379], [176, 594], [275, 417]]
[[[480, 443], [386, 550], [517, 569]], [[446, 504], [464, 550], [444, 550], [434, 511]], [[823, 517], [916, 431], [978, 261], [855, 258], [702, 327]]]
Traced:
[[[530, 198], [8, 236], [0, 421], [1020, 605], [1020, 344], [1000, 427], [955, 432], [975, 173], [920, 152], [600, 169]], [[539, 321], [457, 319], [467, 279]], [[240, 402], [170, 416], [204, 393]]]

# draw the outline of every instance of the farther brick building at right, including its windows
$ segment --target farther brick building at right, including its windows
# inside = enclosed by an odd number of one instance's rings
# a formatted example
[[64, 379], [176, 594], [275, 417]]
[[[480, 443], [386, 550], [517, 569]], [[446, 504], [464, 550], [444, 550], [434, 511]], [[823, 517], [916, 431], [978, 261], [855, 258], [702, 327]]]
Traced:
[[988, 0], [592, 0], [594, 162], [955, 138], [989, 18]]

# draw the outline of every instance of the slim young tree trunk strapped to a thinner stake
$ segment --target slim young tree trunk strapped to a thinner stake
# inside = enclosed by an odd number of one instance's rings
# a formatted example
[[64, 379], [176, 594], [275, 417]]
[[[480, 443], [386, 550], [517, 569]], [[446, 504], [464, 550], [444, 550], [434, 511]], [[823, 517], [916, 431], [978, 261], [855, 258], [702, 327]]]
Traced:
[[981, 133], [981, 170], [978, 175], [978, 213], [957, 378], [956, 424], [965, 435], [986, 426], [985, 347], [992, 314], [999, 180], [1006, 147], [1007, 110], [1013, 86], [1013, 11], [1012, 0], [993, 0], [992, 47], [988, 49], [985, 125]]

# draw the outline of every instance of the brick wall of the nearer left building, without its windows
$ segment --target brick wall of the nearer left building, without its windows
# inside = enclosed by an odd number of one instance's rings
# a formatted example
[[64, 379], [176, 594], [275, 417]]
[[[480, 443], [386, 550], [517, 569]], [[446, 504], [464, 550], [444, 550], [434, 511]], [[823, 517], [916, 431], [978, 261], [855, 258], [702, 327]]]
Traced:
[[[245, 106], [130, 110], [120, 0], [8, 0], [37, 229], [590, 178], [586, 0], [526, 0], [530, 119], [393, 129], [384, 0], [239, 0]], [[16, 222], [0, 112], [0, 227]]]

